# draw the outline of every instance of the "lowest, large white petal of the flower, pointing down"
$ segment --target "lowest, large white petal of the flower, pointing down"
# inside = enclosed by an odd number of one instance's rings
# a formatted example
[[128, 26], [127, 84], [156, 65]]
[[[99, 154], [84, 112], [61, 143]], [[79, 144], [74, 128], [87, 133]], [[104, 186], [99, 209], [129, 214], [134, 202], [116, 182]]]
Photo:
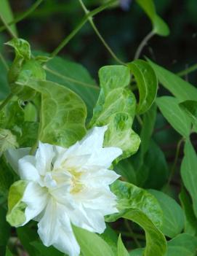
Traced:
[[79, 244], [73, 234], [64, 206], [50, 199], [38, 226], [39, 236], [45, 246], [53, 245], [69, 256], [79, 256]]

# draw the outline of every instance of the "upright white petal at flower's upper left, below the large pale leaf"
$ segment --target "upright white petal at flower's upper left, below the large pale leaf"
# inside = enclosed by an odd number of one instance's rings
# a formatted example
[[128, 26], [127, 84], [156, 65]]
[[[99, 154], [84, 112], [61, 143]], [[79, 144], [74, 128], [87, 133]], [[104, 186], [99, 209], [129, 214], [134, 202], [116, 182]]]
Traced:
[[36, 152], [36, 169], [39, 174], [44, 175], [47, 171], [51, 171], [52, 158], [54, 157], [53, 145], [39, 142], [39, 149]]

